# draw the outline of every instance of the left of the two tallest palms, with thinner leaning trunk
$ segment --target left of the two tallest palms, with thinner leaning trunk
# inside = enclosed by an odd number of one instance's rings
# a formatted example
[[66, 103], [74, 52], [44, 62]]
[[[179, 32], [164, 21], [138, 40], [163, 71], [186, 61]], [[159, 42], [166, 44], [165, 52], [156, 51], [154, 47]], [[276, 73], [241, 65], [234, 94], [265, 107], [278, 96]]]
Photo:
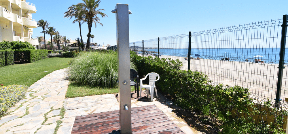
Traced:
[[83, 42], [82, 34], [81, 34], [81, 22], [82, 21], [84, 22], [84, 16], [81, 14], [81, 12], [82, 12], [81, 9], [82, 8], [81, 8], [81, 6], [79, 4], [71, 5], [70, 7], [68, 7], [68, 11], [64, 13], [65, 14], [64, 17], [67, 17], [67, 18], [70, 17], [70, 20], [71, 20], [72, 17], [74, 17], [75, 20], [73, 20], [72, 23], [75, 23], [75, 22], [79, 23], [81, 42]]

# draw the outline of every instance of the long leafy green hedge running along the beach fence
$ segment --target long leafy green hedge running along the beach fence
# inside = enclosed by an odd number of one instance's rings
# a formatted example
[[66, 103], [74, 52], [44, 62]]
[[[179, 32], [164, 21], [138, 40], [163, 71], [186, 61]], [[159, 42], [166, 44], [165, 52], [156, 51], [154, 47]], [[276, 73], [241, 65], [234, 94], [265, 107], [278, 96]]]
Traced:
[[[285, 133], [287, 111], [272, 107], [271, 101], [254, 103], [247, 88], [212, 85], [202, 72], [180, 70], [179, 60], [141, 57], [132, 51], [130, 57], [137, 65], [140, 79], [149, 72], [158, 73], [157, 89], [185, 111], [197, 113], [202, 123], [218, 127], [218, 133]], [[268, 113], [263, 111], [264, 107]], [[268, 116], [274, 121], [268, 122]]]

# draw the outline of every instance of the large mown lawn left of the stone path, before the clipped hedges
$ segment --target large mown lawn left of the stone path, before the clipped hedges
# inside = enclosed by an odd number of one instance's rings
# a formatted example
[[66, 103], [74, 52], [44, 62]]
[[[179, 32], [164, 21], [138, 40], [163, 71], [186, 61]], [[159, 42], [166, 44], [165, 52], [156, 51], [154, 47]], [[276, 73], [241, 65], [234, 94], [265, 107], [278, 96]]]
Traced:
[[72, 58], [46, 58], [33, 63], [14, 64], [0, 68], [0, 84], [31, 86], [47, 74], [69, 67]]

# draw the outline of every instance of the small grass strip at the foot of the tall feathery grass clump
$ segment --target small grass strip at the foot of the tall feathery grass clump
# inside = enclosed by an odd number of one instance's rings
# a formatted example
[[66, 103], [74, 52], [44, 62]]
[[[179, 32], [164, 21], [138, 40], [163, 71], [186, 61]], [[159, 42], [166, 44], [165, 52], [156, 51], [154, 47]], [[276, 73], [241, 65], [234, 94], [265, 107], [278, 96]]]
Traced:
[[[134, 86], [130, 86], [130, 87], [131, 87], [131, 91], [135, 91]], [[74, 97], [111, 94], [111, 93], [118, 93], [118, 87], [99, 88], [99, 87], [79, 86], [74, 83], [70, 83], [65, 97], [74, 98]]]

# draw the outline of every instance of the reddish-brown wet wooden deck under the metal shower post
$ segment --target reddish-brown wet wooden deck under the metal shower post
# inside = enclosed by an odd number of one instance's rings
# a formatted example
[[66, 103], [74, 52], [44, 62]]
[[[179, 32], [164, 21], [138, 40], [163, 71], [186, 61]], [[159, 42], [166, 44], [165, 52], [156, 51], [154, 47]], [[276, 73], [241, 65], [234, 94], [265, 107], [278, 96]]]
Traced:
[[[131, 108], [133, 134], [185, 134], [155, 105]], [[119, 110], [77, 116], [71, 134], [117, 134]]]

